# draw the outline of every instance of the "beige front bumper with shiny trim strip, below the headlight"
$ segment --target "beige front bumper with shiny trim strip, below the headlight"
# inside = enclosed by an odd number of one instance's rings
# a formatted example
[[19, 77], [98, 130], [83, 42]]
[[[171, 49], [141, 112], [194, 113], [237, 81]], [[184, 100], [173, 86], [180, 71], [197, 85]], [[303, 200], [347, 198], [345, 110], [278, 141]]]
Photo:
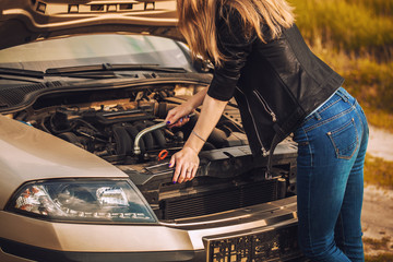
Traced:
[[[296, 196], [204, 217], [155, 225], [55, 223], [0, 212], [0, 235], [16, 242], [72, 252], [204, 249], [203, 238], [296, 224]], [[7, 225], [7, 226], [5, 226]], [[43, 233], [45, 233], [43, 235]], [[37, 241], [39, 237], [39, 241]]]

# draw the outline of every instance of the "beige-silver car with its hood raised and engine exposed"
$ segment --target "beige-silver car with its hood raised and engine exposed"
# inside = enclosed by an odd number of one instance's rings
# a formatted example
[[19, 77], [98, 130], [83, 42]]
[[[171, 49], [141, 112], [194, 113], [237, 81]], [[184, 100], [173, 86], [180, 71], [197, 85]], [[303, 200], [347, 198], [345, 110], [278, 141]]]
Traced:
[[[71, 3], [72, 2], [72, 3]], [[231, 100], [174, 184], [167, 111], [209, 86], [175, 1], [0, 0], [0, 261], [290, 261], [296, 154], [253, 158]]]

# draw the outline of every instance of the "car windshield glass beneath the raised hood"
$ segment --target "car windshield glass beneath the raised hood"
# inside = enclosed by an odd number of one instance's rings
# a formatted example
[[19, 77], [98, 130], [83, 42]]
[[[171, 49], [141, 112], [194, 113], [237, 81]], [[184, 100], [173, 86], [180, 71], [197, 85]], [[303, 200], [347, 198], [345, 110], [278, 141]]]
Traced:
[[97, 63], [152, 63], [192, 71], [189, 62], [176, 41], [142, 35], [74, 36], [0, 50], [0, 67], [37, 71]]

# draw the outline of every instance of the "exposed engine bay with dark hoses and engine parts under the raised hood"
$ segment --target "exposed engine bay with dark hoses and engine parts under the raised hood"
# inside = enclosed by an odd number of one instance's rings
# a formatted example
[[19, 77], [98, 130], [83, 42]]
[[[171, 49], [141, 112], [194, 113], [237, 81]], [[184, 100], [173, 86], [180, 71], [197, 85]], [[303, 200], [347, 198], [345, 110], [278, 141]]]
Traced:
[[[145, 87], [134, 92], [124, 91], [121, 98], [117, 98], [117, 91], [70, 93], [61, 98], [48, 95], [40, 97], [31, 108], [15, 114], [14, 118], [109, 163], [145, 163], [156, 159], [158, 155], [165, 158], [163, 156], [178, 151], [187, 141], [198, 120], [198, 110], [181, 128], [169, 129], [164, 124], [160, 129], [146, 132], [139, 140], [140, 152], [134, 151], [139, 133], [162, 123], [168, 110], [184, 102], [187, 95], [192, 95], [195, 88], [198, 87]], [[248, 144], [238, 118], [238, 115], [229, 116], [227, 110], [203, 150]]]

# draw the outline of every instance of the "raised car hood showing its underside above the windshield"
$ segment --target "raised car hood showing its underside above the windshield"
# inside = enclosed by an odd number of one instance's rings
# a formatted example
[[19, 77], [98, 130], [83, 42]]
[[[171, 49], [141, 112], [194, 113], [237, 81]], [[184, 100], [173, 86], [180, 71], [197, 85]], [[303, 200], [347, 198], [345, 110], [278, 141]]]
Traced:
[[0, 0], [0, 49], [60, 36], [114, 32], [181, 40], [176, 0]]

